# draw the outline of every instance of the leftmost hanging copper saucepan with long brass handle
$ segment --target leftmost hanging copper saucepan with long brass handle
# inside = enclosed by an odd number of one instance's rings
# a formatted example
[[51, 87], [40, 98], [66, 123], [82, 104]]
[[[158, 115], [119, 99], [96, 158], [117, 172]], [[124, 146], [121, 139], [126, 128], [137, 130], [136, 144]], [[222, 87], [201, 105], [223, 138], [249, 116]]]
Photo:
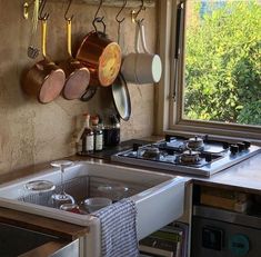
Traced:
[[42, 56], [22, 78], [22, 89], [29, 96], [37, 97], [41, 103], [54, 100], [61, 92], [66, 75], [61, 68], [47, 58], [47, 19], [42, 19]]

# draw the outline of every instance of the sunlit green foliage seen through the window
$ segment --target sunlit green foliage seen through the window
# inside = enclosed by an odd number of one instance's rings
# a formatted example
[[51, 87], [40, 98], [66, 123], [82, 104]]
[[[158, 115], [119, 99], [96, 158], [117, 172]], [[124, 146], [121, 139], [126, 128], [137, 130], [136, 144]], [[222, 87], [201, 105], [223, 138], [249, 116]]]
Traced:
[[187, 1], [183, 118], [261, 126], [261, 1]]

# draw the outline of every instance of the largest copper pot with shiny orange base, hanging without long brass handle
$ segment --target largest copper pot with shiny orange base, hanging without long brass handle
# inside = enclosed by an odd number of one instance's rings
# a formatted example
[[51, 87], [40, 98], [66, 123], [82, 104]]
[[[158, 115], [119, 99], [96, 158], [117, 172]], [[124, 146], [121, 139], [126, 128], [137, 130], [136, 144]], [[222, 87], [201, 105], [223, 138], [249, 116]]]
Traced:
[[100, 31], [91, 31], [86, 36], [76, 58], [90, 70], [91, 86], [111, 86], [121, 67], [120, 46]]

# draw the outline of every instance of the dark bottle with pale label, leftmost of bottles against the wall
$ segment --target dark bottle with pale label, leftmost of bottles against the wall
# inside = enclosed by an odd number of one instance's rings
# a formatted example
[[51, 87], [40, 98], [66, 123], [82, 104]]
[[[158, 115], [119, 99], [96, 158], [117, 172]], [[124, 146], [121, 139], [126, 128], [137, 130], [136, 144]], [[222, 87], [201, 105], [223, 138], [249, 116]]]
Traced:
[[90, 128], [90, 115], [86, 115], [84, 130], [81, 135], [82, 154], [91, 154], [94, 150], [94, 134]]

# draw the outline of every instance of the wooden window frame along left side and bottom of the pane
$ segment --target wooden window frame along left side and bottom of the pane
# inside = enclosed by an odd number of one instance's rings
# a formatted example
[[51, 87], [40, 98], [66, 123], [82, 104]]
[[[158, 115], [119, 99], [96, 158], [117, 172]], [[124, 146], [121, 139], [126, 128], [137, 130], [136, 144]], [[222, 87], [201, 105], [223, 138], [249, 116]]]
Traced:
[[[184, 40], [185, 16], [181, 26], [180, 41], [181, 51], [179, 55], [178, 82], [175, 88], [174, 51], [175, 51], [175, 28], [178, 4], [184, 4], [187, 0], [161, 0], [159, 1], [159, 51], [163, 63], [163, 76], [157, 90], [159, 99], [157, 105], [155, 134], [175, 135], [209, 135], [212, 138], [248, 139], [261, 144], [261, 127], [221, 123], [215, 121], [188, 120], [182, 118], [183, 85], [184, 85]], [[173, 92], [175, 91], [175, 100]]]

